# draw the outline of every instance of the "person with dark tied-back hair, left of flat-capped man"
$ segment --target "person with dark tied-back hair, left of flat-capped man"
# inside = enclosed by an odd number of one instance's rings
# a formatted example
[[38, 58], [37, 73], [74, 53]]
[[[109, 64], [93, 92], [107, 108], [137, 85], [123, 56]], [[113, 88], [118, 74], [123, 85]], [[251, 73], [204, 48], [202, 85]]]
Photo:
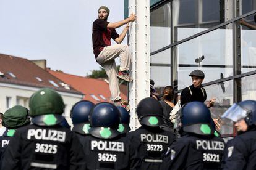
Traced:
[[161, 128], [166, 131], [173, 131], [173, 123], [171, 123], [171, 120], [169, 119], [170, 113], [174, 107], [173, 97], [174, 97], [173, 86], [164, 87], [163, 99], [160, 101], [160, 104], [163, 107], [163, 121], [164, 121], [164, 124], [161, 126]]

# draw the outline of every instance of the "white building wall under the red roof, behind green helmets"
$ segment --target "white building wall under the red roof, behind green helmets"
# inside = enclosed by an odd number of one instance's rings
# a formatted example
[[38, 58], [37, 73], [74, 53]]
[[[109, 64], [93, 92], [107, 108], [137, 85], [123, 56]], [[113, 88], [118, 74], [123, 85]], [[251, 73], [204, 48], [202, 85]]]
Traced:
[[[29, 109], [29, 98], [34, 92], [38, 91], [38, 89], [40, 88], [0, 83], [0, 112], [4, 113], [7, 110], [6, 97], [12, 97], [11, 107], [17, 105], [17, 98], [19, 98], [21, 99], [20, 105], [23, 105], [24, 107], [27, 107]], [[61, 94], [64, 100], [64, 104], [66, 105], [63, 115], [66, 117], [68, 123], [71, 125], [72, 121], [70, 119], [70, 110], [74, 103], [82, 100], [83, 95], [71, 94], [67, 92], [59, 92], [59, 94]]]

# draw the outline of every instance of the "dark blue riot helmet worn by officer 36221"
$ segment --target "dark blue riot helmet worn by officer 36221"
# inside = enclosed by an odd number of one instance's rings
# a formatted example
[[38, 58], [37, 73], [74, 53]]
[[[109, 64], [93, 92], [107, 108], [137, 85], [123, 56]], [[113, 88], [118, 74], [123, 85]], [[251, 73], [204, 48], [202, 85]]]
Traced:
[[200, 135], [214, 133], [211, 127], [210, 110], [202, 102], [189, 102], [181, 111], [181, 123], [184, 132]]

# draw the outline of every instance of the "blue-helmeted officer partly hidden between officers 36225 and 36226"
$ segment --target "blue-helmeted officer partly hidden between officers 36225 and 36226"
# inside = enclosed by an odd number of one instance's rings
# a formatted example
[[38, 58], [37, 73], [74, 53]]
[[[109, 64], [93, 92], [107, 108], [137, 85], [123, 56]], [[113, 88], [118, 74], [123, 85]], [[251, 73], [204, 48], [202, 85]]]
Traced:
[[74, 125], [72, 131], [74, 131], [79, 139], [88, 136], [90, 123], [88, 116], [94, 104], [88, 100], [81, 100], [75, 103], [70, 111], [72, 123]]

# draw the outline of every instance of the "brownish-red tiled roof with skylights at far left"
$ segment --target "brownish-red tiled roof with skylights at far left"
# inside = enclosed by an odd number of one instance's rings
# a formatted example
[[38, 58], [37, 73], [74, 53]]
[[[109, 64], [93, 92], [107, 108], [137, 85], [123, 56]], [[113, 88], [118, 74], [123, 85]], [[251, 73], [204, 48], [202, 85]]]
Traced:
[[[38, 65], [30, 60], [20, 57], [0, 54], [0, 72], [0, 82], [2, 83], [39, 88], [49, 87], [56, 89], [57, 91], [81, 94], [72, 87], [70, 87], [70, 89], [65, 89], [61, 84], [59, 84], [62, 82], [60, 79], [49, 74], [48, 71], [38, 67]], [[1, 75], [2, 73], [4, 75]], [[14, 74], [16, 78], [13, 78], [9, 73]], [[40, 78], [42, 81], [38, 81], [36, 77]], [[59, 87], [55, 87], [53, 84], [49, 83], [49, 80], [54, 81], [54, 83], [58, 84]]]

